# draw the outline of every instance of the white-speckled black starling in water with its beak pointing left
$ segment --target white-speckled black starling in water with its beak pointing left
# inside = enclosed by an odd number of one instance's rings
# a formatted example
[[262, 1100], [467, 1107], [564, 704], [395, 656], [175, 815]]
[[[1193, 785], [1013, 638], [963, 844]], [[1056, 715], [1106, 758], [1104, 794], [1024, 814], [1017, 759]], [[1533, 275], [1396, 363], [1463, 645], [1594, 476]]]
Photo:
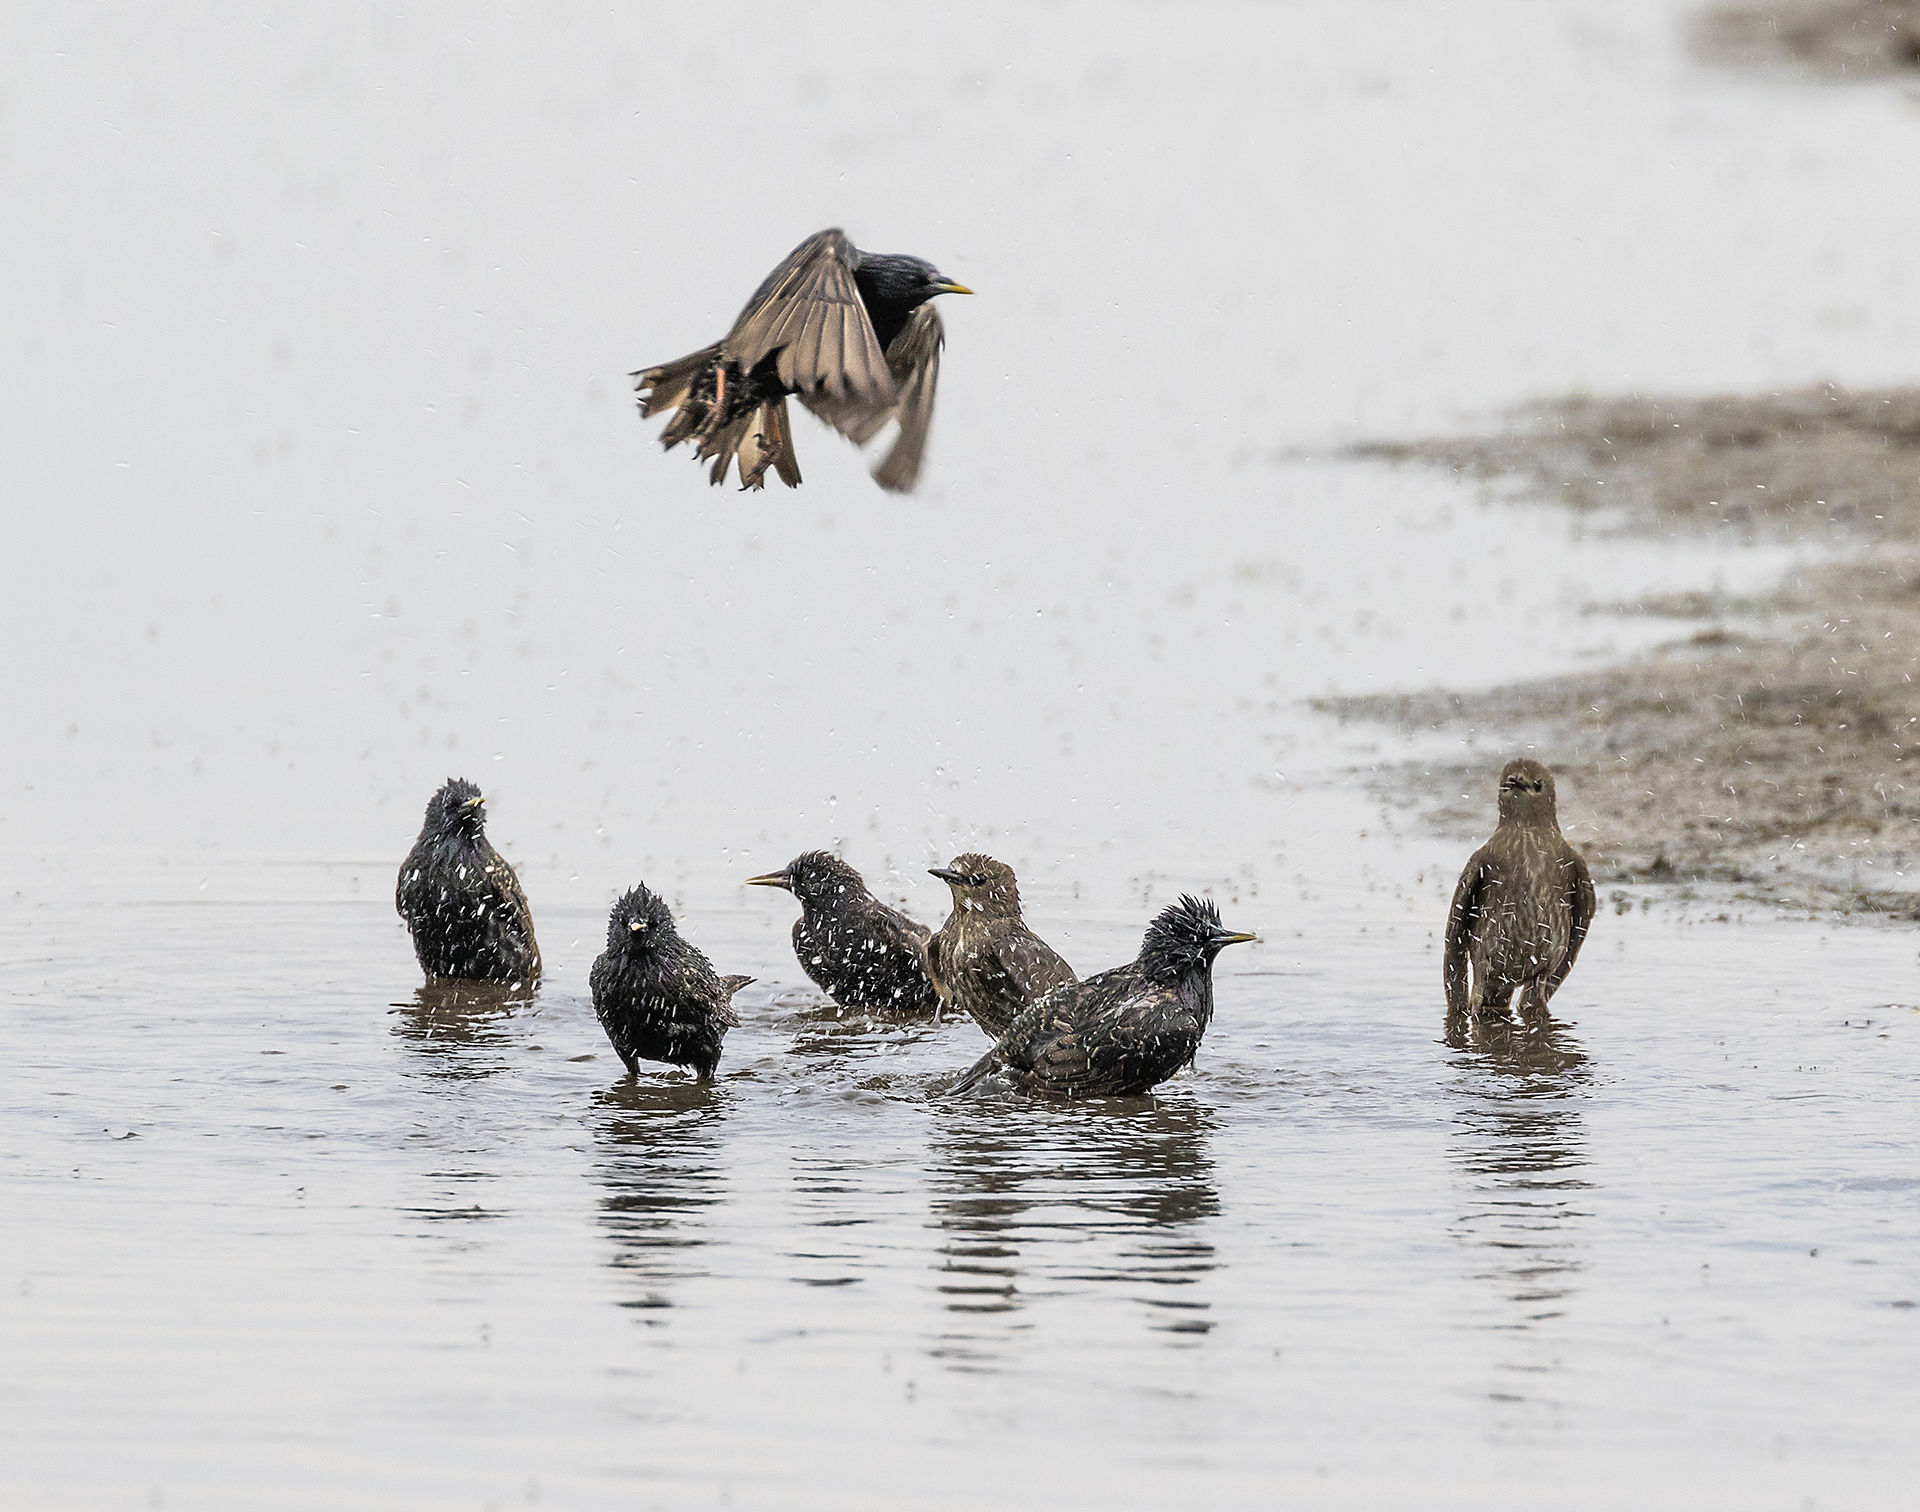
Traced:
[[847, 862], [808, 850], [783, 871], [749, 877], [747, 886], [783, 886], [801, 900], [793, 954], [814, 986], [841, 1007], [939, 1013], [941, 1000], [927, 977], [931, 931], [879, 902]]

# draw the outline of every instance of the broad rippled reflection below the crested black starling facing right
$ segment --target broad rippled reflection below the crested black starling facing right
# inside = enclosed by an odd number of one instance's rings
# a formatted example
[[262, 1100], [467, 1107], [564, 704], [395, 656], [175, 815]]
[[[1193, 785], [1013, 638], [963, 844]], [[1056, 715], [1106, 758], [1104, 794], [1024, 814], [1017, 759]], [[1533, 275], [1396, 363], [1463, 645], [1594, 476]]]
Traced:
[[[1114, 1098], [1060, 1109], [975, 1103], [933, 1138], [939, 1293], [958, 1314], [935, 1353], [991, 1368], [1031, 1334], [1016, 1316], [1048, 1299], [1125, 1299], [1152, 1330], [1206, 1334], [1202, 1282], [1219, 1213], [1213, 1115], [1187, 1098]], [[966, 1322], [962, 1322], [966, 1320]]]

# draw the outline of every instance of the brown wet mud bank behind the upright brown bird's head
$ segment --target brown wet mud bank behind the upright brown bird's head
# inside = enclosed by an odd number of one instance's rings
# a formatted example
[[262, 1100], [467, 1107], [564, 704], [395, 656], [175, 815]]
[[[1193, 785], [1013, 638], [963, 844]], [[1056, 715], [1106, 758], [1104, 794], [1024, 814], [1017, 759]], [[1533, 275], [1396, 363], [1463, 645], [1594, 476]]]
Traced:
[[1574, 399], [1511, 430], [1361, 455], [1557, 501], [1601, 530], [1734, 530], [1809, 564], [1761, 595], [1686, 593], [1601, 614], [1697, 629], [1619, 666], [1492, 691], [1325, 698], [1348, 723], [1438, 739], [1375, 787], [1480, 835], [1492, 769], [1555, 768], [1596, 881], [1732, 883], [1763, 902], [1920, 915], [1920, 390]]

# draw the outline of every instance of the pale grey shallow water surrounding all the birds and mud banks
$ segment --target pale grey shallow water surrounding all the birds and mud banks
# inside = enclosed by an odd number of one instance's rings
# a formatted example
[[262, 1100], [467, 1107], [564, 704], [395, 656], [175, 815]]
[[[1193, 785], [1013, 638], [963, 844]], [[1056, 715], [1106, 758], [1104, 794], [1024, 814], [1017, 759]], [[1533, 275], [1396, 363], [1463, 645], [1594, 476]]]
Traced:
[[[1910, 1483], [1910, 929], [1609, 892], [1557, 1028], [1452, 1046], [1467, 846], [1302, 700], [1766, 583], [1331, 451], [1910, 376], [1920, 111], [1667, 4], [1190, 10], [8, 23], [10, 1504]], [[622, 374], [828, 221], [983, 290], [927, 487], [803, 418], [804, 489], [710, 493]], [[392, 913], [449, 771], [522, 1000], [422, 998]], [[927, 921], [993, 850], [1083, 971], [1188, 886], [1261, 944], [1162, 1096], [948, 1103], [977, 1034], [837, 1019], [739, 886], [816, 844]], [[714, 1088], [593, 1023], [636, 879], [758, 977]]]

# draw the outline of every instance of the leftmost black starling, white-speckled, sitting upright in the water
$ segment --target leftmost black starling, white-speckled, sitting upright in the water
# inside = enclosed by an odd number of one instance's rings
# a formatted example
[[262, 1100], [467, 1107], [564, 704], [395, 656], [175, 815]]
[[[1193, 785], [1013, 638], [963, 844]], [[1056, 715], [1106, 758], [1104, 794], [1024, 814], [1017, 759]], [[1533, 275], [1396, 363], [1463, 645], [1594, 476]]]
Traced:
[[420, 839], [399, 867], [394, 908], [413, 934], [426, 980], [540, 980], [534, 915], [520, 879], [486, 839], [480, 789], [449, 777], [426, 806]]

